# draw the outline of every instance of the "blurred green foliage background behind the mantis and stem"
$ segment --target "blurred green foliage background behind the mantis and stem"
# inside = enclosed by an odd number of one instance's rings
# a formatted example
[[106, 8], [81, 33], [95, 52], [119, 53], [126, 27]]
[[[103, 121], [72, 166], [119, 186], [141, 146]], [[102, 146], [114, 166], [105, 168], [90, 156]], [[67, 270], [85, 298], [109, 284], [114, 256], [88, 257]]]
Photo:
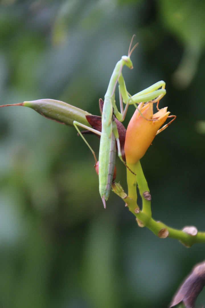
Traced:
[[[164, 80], [160, 107], [177, 115], [141, 160], [153, 218], [205, 230], [205, 2], [2, 0], [0, 103], [50, 98], [100, 115], [133, 34], [128, 91]], [[98, 153], [99, 140], [87, 140]], [[93, 165], [74, 128], [26, 107], [0, 109], [1, 308], [167, 307], [204, 260], [204, 244], [187, 249], [139, 228], [112, 192], [104, 210]], [[116, 167], [126, 191], [118, 158]]]

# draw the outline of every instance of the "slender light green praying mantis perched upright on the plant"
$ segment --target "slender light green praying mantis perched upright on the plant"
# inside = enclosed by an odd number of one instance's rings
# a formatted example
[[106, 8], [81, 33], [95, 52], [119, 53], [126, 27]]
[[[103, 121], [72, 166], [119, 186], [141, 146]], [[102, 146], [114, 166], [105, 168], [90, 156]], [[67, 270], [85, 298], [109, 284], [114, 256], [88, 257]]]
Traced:
[[[132, 40], [135, 35], [133, 35]], [[122, 159], [121, 149], [120, 149], [120, 140], [119, 134], [117, 131], [117, 126], [115, 122], [115, 117], [122, 122], [125, 118], [128, 105], [134, 104], [137, 108], [136, 104], [141, 102], [150, 102], [153, 103], [159, 101], [165, 94], [165, 82], [159, 81], [152, 86], [146, 88], [143, 91], [136, 93], [135, 95], [130, 95], [126, 89], [126, 85], [124, 82], [124, 78], [122, 76], [122, 68], [126, 65], [128, 68], [132, 69], [132, 61], [130, 56], [132, 51], [136, 48], [138, 43], [131, 49], [132, 40], [128, 50], [128, 56], [122, 56], [121, 59], [116, 63], [112, 76], [110, 78], [108, 89], [104, 96], [104, 105], [102, 110], [102, 131], [99, 132], [93, 128], [87, 127], [77, 121], [73, 121], [73, 125], [85, 141], [85, 143], [89, 146], [92, 151], [95, 161], [97, 162], [95, 153], [93, 149], [90, 147], [88, 142], [82, 136], [79, 128], [77, 126], [81, 126], [82, 128], [86, 128], [91, 132], [94, 132], [101, 136], [100, 139], [100, 149], [99, 149], [99, 191], [103, 201], [103, 205], [105, 208], [105, 201], [108, 200], [111, 185], [112, 185], [112, 177], [115, 166], [115, 157], [116, 157], [116, 145], [115, 139], [117, 142], [117, 150], [118, 156], [120, 160], [126, 165], [124, 160]], [[116, 85], [119, 83], [119, 96], [120, 96], [120, 112], [117, 109], [115, 102], [115, 89]], [[125, 108], [123, 109], [123, 103], [125, 103]], [[158, 105], [157, 105], [158, 107]], [[131, 170], [130, 170], [131, 171]], [[132, 171], [131, 171], [132, 172]]]

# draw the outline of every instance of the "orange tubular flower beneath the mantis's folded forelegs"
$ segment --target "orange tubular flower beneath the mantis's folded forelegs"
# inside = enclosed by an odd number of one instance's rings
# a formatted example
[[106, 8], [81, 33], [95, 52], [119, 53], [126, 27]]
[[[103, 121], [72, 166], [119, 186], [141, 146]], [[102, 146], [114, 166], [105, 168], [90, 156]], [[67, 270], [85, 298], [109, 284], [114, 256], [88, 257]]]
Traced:
[[170, 114], [165, 107], [153, 115], [153, 103], [140, 103], [138, 109], [133, 114], [126, 132], [124, 152], [127, 164], [136, 164], [144, 156], [159, 128]]

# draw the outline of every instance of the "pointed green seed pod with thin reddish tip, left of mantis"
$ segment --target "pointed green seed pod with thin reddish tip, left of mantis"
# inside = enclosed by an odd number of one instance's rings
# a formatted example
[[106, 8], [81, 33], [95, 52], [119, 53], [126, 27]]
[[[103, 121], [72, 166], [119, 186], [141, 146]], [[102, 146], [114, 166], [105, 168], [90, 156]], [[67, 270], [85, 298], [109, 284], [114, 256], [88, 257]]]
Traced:
[[77, 121], [91, 127], [85, 117], [85, 115], [91, 115], [89, 112], [61, 102], [60, 100], [38, 99], [19, 104], [2, 105], [0, 107], [6, 106], [26, 106], [34, 109], [46, 118], [62, 124], [73, 126], [73, 121]]

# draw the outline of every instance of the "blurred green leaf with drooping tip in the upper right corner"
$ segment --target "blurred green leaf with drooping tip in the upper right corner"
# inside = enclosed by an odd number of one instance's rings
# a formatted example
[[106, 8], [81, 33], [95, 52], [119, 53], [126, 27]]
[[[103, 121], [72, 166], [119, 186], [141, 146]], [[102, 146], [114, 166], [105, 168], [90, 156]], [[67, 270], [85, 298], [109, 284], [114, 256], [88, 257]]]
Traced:
[[182, 61], [174, 75], [178, 87], [187, 87], [191, 82], [204, 51], [204, 12], [203, 1], [160, 0], [160, 13], [164, 26], [176, 36], [179, 43], [185, 45]]

